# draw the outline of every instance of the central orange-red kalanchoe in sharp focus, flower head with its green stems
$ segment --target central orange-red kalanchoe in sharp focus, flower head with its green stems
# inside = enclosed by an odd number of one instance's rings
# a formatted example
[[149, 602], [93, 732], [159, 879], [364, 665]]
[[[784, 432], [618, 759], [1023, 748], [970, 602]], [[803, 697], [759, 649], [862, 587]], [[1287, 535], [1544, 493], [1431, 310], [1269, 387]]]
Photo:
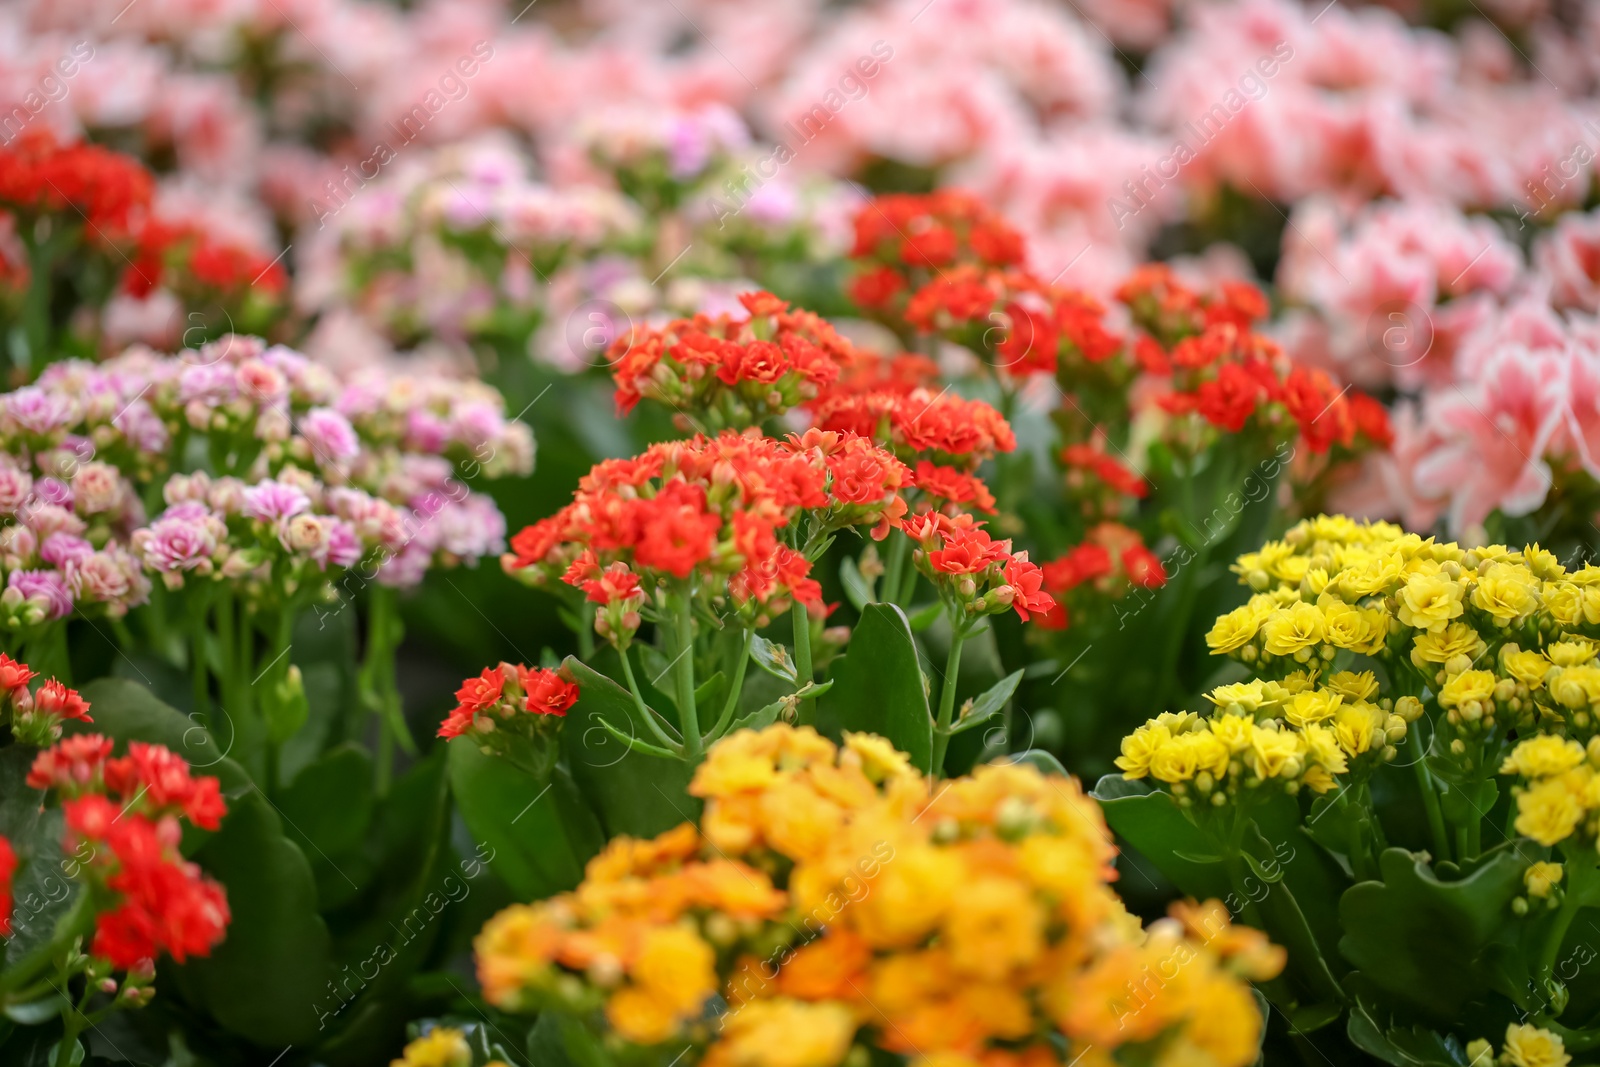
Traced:
[[[752, 430], [658, 445], [597, 466], [570, 506], [512, 539], [506, 569], [571, 587], [574, 605], [581, 589], [594, 605], [594, 629], [616, 649], [632, 696], [627, 721], [603, 718], [602, 728], [638, 752], [698, 761], [733, 726], [749, 659], [768, 648], [752, 633], [792, 605], [803, 609], [794, 611], [794, 662], [781, 670], [802, 689], [814, 681], [811, 609], [822, 590], [811, 565], [838, 531], [888, 536], [910, 483], [904, 464], [851, 434], [778, 442]], [[634, 672], [629, 649], [646, 621], [669, 661], [653, 683], [672, 675], [677, 721], [650, 705]], [[696, 677], [718, 669], [731, 683], [702, 721]]]

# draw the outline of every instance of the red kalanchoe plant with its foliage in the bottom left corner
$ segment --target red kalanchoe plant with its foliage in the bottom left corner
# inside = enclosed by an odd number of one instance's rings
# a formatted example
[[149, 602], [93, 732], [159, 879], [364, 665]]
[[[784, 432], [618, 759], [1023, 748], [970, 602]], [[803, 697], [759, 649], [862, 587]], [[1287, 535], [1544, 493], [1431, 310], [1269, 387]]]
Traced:
[[[114, 757], [101, 734], [61, 737], [62, 723], [93, 723], [90, 704], [54, 678], [30, 693], [32, 678], [0, 656], [11, 720], [0, 747], [0, 997], [14, 1021], [59, 1017], [54, 1062], [67, 1064], [82, 1062], [86, 1029], [150, 1003], [158, 958], [206, 957], [222, 939], [226, 893], [179, 841], [182, 822], [216, 830], [227, 805], [218, 779], [194, 776], [165, 745], [134, 741]], [[26, 777], [11, 781], [13, 757], [35, 749]]]

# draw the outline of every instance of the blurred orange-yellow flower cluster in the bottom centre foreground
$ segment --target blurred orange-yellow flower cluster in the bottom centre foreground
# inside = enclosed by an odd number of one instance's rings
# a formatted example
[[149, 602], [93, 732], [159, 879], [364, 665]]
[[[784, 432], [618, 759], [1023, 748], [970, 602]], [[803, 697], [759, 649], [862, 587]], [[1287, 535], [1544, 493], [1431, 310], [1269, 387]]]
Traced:
[[[995, 1065], [1256, 1054], [1242, 977], [1275, 976], [1282, 950], [1221, 905], [1141, 931], [1069, 779], [994, 765], [933, 793], [882, 737], [776, 725], [715, 745], [691, 792], [699, 830], [618, 838], [576, 893], [490, 921], [491, 1003], [603, 1008], [626, 1041], [686, 1040], [722, 1067], [835, 1067], [874, 1046]], [[1170, 979], [1133, 995], [1130, 976], [1163, 961]]]

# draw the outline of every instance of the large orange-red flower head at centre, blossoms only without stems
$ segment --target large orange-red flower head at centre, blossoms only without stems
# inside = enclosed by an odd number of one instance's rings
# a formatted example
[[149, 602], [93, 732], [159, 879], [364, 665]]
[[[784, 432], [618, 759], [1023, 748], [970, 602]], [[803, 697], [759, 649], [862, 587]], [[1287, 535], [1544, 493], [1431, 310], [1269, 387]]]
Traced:
[[853, 434], [694, 437], [595, 466], [571, 504], [512, 537], [504, 565], [530, 584], [582, 589], [602, 608], [597, 630], [619, 646], [672, 581], [710, 598], [726, 590], [741, 613], [770, 621], [790, 600], [821, 603], [813, 542], [846, 526], [888, 536], [910, 485], [902, 462]]

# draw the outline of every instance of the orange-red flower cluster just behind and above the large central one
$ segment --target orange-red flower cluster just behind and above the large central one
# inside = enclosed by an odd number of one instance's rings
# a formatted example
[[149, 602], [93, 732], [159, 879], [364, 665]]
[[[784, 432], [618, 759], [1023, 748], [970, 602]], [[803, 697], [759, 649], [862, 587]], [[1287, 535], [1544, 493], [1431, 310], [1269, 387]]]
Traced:
[[853, 362], [854, 347], [821, 317], [771, 293], [739, 302], [744, 318], [699, 314], [619, 336], [608, 354], [618, 410], [648, 397], [685, 429], [755, 426], [814, 400]]

